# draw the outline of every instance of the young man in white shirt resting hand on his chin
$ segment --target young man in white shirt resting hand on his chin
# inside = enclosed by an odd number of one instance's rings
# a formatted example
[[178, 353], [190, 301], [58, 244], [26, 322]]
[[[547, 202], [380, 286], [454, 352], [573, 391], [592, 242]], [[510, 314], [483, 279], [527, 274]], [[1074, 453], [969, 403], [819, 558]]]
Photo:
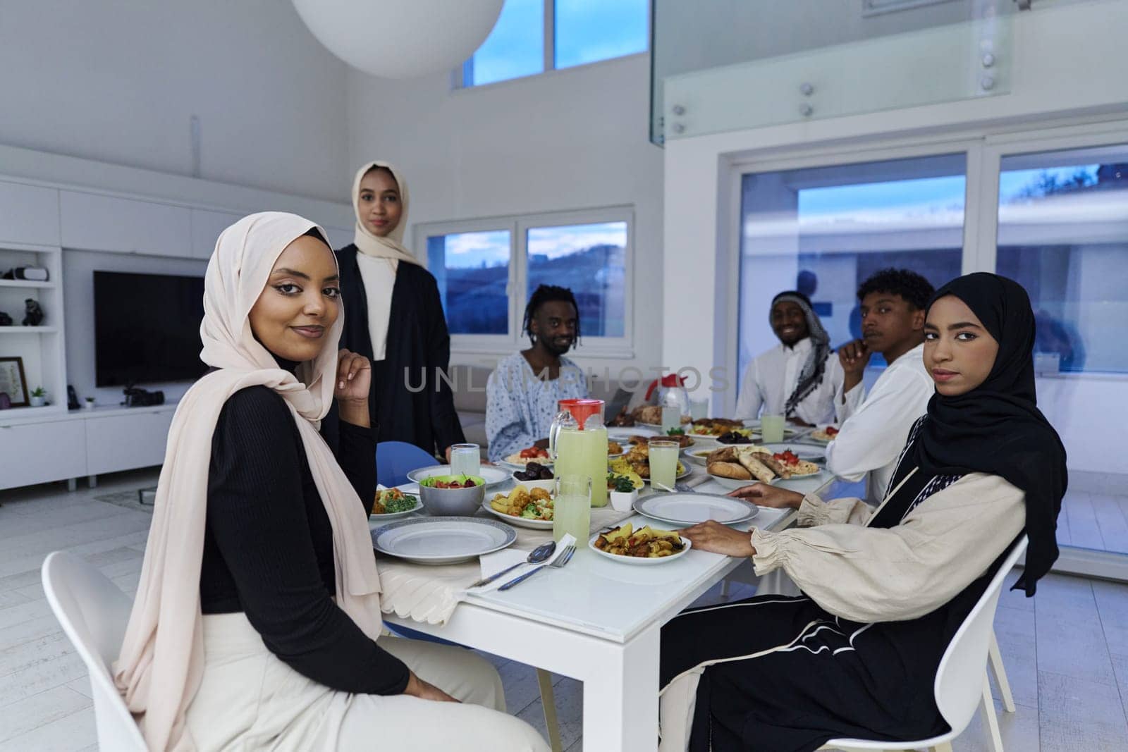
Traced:
[[[866, 501], [884, 498], [909, 430], [928, 408], [935, 386], [924, 366], [924, 316], [933, 287], [908, 269], [881, 269], [862, 283], [862, 338], [838, 350], [843, 370], [835, 409], [841, 422], [827, 446], [827, 468], [856, 483], [869, 475]], [[865, 393], [873, 353], [889, 366]]]

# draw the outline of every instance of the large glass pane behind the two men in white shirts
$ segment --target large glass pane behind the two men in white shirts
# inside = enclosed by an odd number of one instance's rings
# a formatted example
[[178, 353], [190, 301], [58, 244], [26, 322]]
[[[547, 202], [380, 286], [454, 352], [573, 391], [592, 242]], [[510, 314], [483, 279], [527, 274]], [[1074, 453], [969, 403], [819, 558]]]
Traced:
[[878, 269], [908, 268], [935, 286], [959, 276], [964, 165], [961, 153], [746, 175], [740, 374], [778, 344], [768, 325], [778, 292], [807, 293], [838, 347], [861, 336], [857, 286]]

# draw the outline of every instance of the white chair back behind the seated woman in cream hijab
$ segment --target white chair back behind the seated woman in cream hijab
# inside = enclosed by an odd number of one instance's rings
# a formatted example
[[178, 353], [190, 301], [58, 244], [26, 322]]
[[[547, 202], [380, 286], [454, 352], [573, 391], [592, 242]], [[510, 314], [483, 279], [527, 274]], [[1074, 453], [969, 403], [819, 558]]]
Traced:
[[133, 601], [95, 566], [67, 551], [43, 561], [43, 591], [90, 673], [98, 747], [146, 751], [144, 738], [109, 673]]

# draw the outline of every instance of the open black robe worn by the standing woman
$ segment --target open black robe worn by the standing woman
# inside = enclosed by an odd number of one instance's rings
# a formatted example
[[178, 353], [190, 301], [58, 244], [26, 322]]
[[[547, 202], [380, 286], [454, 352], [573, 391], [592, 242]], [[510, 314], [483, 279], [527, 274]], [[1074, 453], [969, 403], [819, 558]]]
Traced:
[[[356, 253], [351, 244], [336, 251], [345, 307], [341, 346], [371, 359], [368, 293]], [[439, 285], [422, 266], [399, 264], [391, 287], [385, 357], [372, 363], [369, 405], [378, 441], [406, 441], [440, 455], [451, 444], [466, 441], [446, 381], [449, 366], [450, 333]]]

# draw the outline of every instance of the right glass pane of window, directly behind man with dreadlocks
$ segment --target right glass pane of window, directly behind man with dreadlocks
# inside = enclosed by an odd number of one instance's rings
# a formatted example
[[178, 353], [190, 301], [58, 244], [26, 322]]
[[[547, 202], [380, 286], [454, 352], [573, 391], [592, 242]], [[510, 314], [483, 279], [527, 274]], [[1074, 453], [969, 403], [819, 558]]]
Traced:
[[569, 287], [585, 337], [622, 337], [626, 317], [626, 222], [538, 227], [528, 231], [528, 289]]

